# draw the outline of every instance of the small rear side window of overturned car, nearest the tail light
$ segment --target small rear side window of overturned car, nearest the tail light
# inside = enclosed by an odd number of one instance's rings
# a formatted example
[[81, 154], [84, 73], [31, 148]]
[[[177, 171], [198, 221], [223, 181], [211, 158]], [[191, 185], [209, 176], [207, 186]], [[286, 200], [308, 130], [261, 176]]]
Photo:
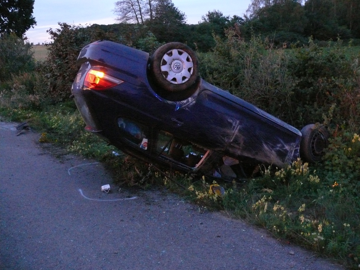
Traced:
[[117, 125], [121, 135], [130, 143], [138, 145], [141, 149], [148, 149], [148, 134], [149, 128], [147, 126], [135, 123], [125, 118], [118, 118]]

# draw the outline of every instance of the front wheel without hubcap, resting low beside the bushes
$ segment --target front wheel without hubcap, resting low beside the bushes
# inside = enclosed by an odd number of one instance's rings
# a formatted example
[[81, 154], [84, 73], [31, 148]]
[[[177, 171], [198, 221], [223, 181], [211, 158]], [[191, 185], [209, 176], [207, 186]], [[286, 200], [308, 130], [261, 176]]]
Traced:
[[300, 157], [309, 163], [318, 162], [329, 145], [330, 134], [320, 124], [310, 124], [301, 130]]

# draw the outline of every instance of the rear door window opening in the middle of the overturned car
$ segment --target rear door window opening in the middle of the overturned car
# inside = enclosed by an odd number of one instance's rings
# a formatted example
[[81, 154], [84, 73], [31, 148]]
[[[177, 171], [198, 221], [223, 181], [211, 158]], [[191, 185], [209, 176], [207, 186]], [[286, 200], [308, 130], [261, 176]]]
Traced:
[[163, 156], [189, 167], [195, 167], [207, 152], [189, 141], [174, 138], [172, 134], [165, 131], [159, 132], [156, 149]]

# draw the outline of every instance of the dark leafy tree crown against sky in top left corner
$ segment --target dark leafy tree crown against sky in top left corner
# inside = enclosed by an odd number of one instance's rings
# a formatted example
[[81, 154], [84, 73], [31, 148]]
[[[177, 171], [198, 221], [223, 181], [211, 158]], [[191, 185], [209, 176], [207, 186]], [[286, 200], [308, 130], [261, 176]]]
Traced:
[[36, 25], [32, 16], [34, 0], [0, 0], [0, 34], [14, 32], [19, 38]]

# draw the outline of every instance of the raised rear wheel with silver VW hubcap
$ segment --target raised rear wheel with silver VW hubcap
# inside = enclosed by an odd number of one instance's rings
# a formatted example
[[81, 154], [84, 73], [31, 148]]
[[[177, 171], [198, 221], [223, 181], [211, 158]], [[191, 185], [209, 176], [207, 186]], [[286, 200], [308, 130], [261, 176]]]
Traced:
[[157, 85], [172, 93], [189, 90], [199, 77], [194, 51], [180, 42], [159, 47], [152, 56], [150, 70]]

